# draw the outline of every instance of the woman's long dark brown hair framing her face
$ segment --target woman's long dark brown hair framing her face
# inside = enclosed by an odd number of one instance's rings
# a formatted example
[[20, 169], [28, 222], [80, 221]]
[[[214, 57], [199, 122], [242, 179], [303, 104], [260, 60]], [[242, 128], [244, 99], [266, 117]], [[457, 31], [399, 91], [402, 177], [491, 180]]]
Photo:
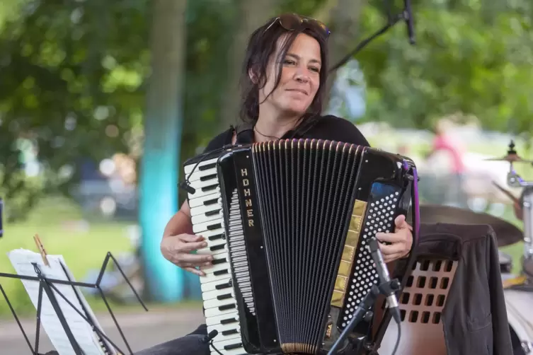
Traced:
[[[270, 28], [269, 28], [270, 26]], [[268, 28], [268, 30], [266, 30]], [[266, 30], [266, 32], [265, 32]], [[243, 62], [241, 73], [241, 120], [244, 122], [256, 122], [259, 115], [259, 90], [263, 88], [266, 83], [266, 71], [270, 57], [275, 53], [277, 47], [277, 40], [287, 33], [286, 40], [282, 43], [280, 48], [281, 59], [285, 58], [287, 51], [300, 33], [305, 33], [313, 37], [319, 42], [321, 69], [320, 69], [320, 86], [316, 91], [313, 102], [309, 106], [309, 114], [319, 115], [322, 112], [322, 105], [324, 95], [326, 93], [326, 81], [328, 80], [328, 48], [327, 38], [323, 35], [323, 30], [318, 26], [310, 23], [304, 23], [294, 30], [286, 30], [280, 25], [280, 21], [271, 18], [267, 23], [258, 28], [252, 33], [248, 40], [248, 47], [246, 48], [246, 57]], [[273, 91], [277, 88], [281, 79], [282, 64], [277, 64], [277, 77]], [[255, 76], [255, 80], [250, 78], [250, 71]], [[272, 92], [268, 93], [270, 95]], [[267, 97], [268, 97], [267, 95]]]

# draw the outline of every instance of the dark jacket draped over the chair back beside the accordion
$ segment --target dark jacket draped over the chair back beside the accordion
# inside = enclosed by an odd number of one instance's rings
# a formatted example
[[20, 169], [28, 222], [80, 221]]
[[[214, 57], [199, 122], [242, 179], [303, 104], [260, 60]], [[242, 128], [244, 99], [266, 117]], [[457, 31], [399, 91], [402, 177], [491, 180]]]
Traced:
[[447, 354], [512, 354], [498, 245], [491, 226], [422, 224], [416, 252], [460, 260], [442, 312]]

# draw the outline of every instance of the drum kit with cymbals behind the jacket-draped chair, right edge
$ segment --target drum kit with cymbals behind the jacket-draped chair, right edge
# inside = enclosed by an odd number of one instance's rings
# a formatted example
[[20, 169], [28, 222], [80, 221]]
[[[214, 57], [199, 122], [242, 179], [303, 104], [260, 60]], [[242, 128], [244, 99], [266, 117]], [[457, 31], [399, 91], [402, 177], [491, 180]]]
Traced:
[[505, 188], [495, 185], [512, 199], [515, 206], [520, 207], [519, 215], [523, 222], [523, 231], [512, 223], [495, 216], [449, 206], [420, 205], [420, 221], [423, 223], [488, 224], [495, 231], [498, 248], [520, 241], [524, 243], [518, 275], [512, 274], [510, 255], [500, 250], [499, 259], [514, 355], [533, 355], [533, 181], [523, 180], [513, 168], [514, 163], [533, 165], [533, 161], [527, 161], [518, 156], [512, 141], [506, 156], [488, 160], [510, 163], [507, 175], [508, 186], [521, 188], [522, 197], [517, 199]]

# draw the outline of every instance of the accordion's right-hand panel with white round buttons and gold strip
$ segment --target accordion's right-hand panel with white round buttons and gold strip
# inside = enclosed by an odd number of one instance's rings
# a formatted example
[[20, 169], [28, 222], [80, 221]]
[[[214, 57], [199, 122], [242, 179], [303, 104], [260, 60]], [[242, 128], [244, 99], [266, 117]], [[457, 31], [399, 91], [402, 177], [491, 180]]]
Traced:
[[[338, 267], [335, 289], [331, 297], [330, 317], [333, 321], [330, 337], [324, 339], [325, 348], [331, 348], [340, 333], [348, 326], [360, 302], [365, 298], [379, 276], [368, 250], [369, 238], [378, 232], [394, 231], [394, 219], [409, 204], [401, 158], [377, 149], [365, 148], [360, 158], [355, 182], [349, 225], [345, 229], [343, 255]], [[403, 199], [403, 197], [406, 197]], [[408, 208], [408, 207], [407, 207]], [[355, 245], [355, 248], [350, 248]], [[346, 270], [349, 276], [346, 277]], [[351, 337], [367, 337], [371, 321], [362, 320]]]

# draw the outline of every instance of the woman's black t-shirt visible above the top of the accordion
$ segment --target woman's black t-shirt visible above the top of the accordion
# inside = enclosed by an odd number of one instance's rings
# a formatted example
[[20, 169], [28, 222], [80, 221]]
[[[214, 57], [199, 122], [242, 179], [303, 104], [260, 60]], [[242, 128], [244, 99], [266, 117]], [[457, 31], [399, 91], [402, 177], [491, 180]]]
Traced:
[[[253, 125], [241, 124], [235, 128], [237, 135], [237, 144], [253, 143]], [[218, 136], [215, 136], [207, 147], [205, 152], [222, 148], [222, 146], [231, 144], [234, 128], [229, 128]], [[309, 117], [304, 120], [298, 127], [290, 130], [282, 139], [323, 139], [328, 141], [340, 141], [342, 143], [357, 144], [360, 146], [370, 146], [365, 136], [362, 135], [355, 125], [343, 118], [333, 115], [320, 117]]]

